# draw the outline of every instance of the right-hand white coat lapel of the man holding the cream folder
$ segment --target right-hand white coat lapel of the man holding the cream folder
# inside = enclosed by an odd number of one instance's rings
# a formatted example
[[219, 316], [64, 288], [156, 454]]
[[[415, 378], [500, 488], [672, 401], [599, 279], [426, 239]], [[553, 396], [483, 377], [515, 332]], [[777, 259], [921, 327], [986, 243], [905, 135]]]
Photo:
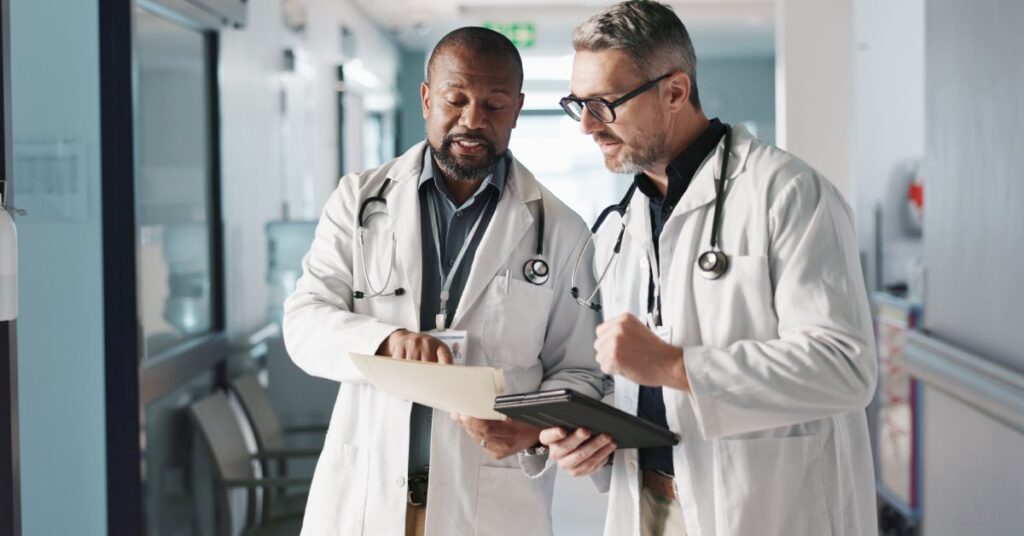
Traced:
[[[459, 307], [452, 319], [453, 328], [459, 327], [466, 312], [483, 294], [490, 280], [507, 263], [509, 256], [522, 242], [534, 223], [534, 215], [530, 214], [527, 203], [540, 199], [541, 192], [534, 176], [519, 161], [512, 159], [505, 192], [473, 256], [466, 288], [462, 291]], [[510, 267], [515, 269], [515, 266]]]

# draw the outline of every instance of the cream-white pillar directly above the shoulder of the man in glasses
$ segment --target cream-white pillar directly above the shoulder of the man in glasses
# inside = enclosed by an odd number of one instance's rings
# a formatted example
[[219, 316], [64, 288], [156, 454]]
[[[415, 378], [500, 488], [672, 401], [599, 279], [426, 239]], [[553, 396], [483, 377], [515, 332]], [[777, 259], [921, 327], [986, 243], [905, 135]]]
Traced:
[[[779, 147], [850, 199], [851, 0], [778, 0], [775, 113]], [[699, 74], [698, 74], [699, 76]]]

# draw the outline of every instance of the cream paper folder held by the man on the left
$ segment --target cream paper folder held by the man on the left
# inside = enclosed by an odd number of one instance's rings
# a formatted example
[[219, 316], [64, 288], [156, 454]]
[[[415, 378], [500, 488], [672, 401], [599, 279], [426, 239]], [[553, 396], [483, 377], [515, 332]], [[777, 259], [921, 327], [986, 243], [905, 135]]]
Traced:
[[359, 354], [348, 357], [368, 382], [396, 397], [478, 419], [507, 418], [494, 409], [495, 398], [505, 393], [505, 373], [501, 369]]

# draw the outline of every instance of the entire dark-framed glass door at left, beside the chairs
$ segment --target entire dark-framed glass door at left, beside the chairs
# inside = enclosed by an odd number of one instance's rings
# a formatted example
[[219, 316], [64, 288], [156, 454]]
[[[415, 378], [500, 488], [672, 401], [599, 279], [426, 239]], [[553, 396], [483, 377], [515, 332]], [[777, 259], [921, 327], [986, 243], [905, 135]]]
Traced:
[[186, 410], [223, 386], [229, 353], [219, 19], [176, 0], [99, 7], [109, 533], [209, 534]]

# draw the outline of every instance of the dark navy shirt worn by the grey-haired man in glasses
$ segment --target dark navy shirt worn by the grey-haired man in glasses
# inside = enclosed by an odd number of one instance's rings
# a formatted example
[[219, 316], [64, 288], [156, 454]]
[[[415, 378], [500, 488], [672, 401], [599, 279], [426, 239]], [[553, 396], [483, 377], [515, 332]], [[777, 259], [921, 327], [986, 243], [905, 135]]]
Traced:
[[[658, 262], [658, 266], [660, 266], [662, 259], [657, 241], [662, 236], [662, 229], [665, 228], [665, 222], [668, 221], [672, 211], [675, 210], [679, 200], [682, 199], [686, 189], [690, 185], [697, 169], [710, 155], [715, 153], [719, 141], [725, 135], [726, 128], [718, 119], [712, 119], [708, 128], [669, 163], [669, 167], [666, 169], [669, 188], [666, 190], [665, 196], [662, 196], [662, 193], [647, 175], [640, 173], [635, 177], [637, 190], [647, 196], [649, 200], [651, 241], [654, 244], [654, 258]], [[671, 298], [662, 296], [663, 301], [667, 299]], [[648, 313], [652, 313], [655, 306], [653, 274], [651, 274], [651, 282], [647, 288], [647, 303]], [[637, 415], [655, 424], [669, 427], [665, 415], [665, 398], [662, 396], [662, 387], [640, 385]], [[640, 449], [639, 454], [641, 469], [675, 475], [671, 447]]]

